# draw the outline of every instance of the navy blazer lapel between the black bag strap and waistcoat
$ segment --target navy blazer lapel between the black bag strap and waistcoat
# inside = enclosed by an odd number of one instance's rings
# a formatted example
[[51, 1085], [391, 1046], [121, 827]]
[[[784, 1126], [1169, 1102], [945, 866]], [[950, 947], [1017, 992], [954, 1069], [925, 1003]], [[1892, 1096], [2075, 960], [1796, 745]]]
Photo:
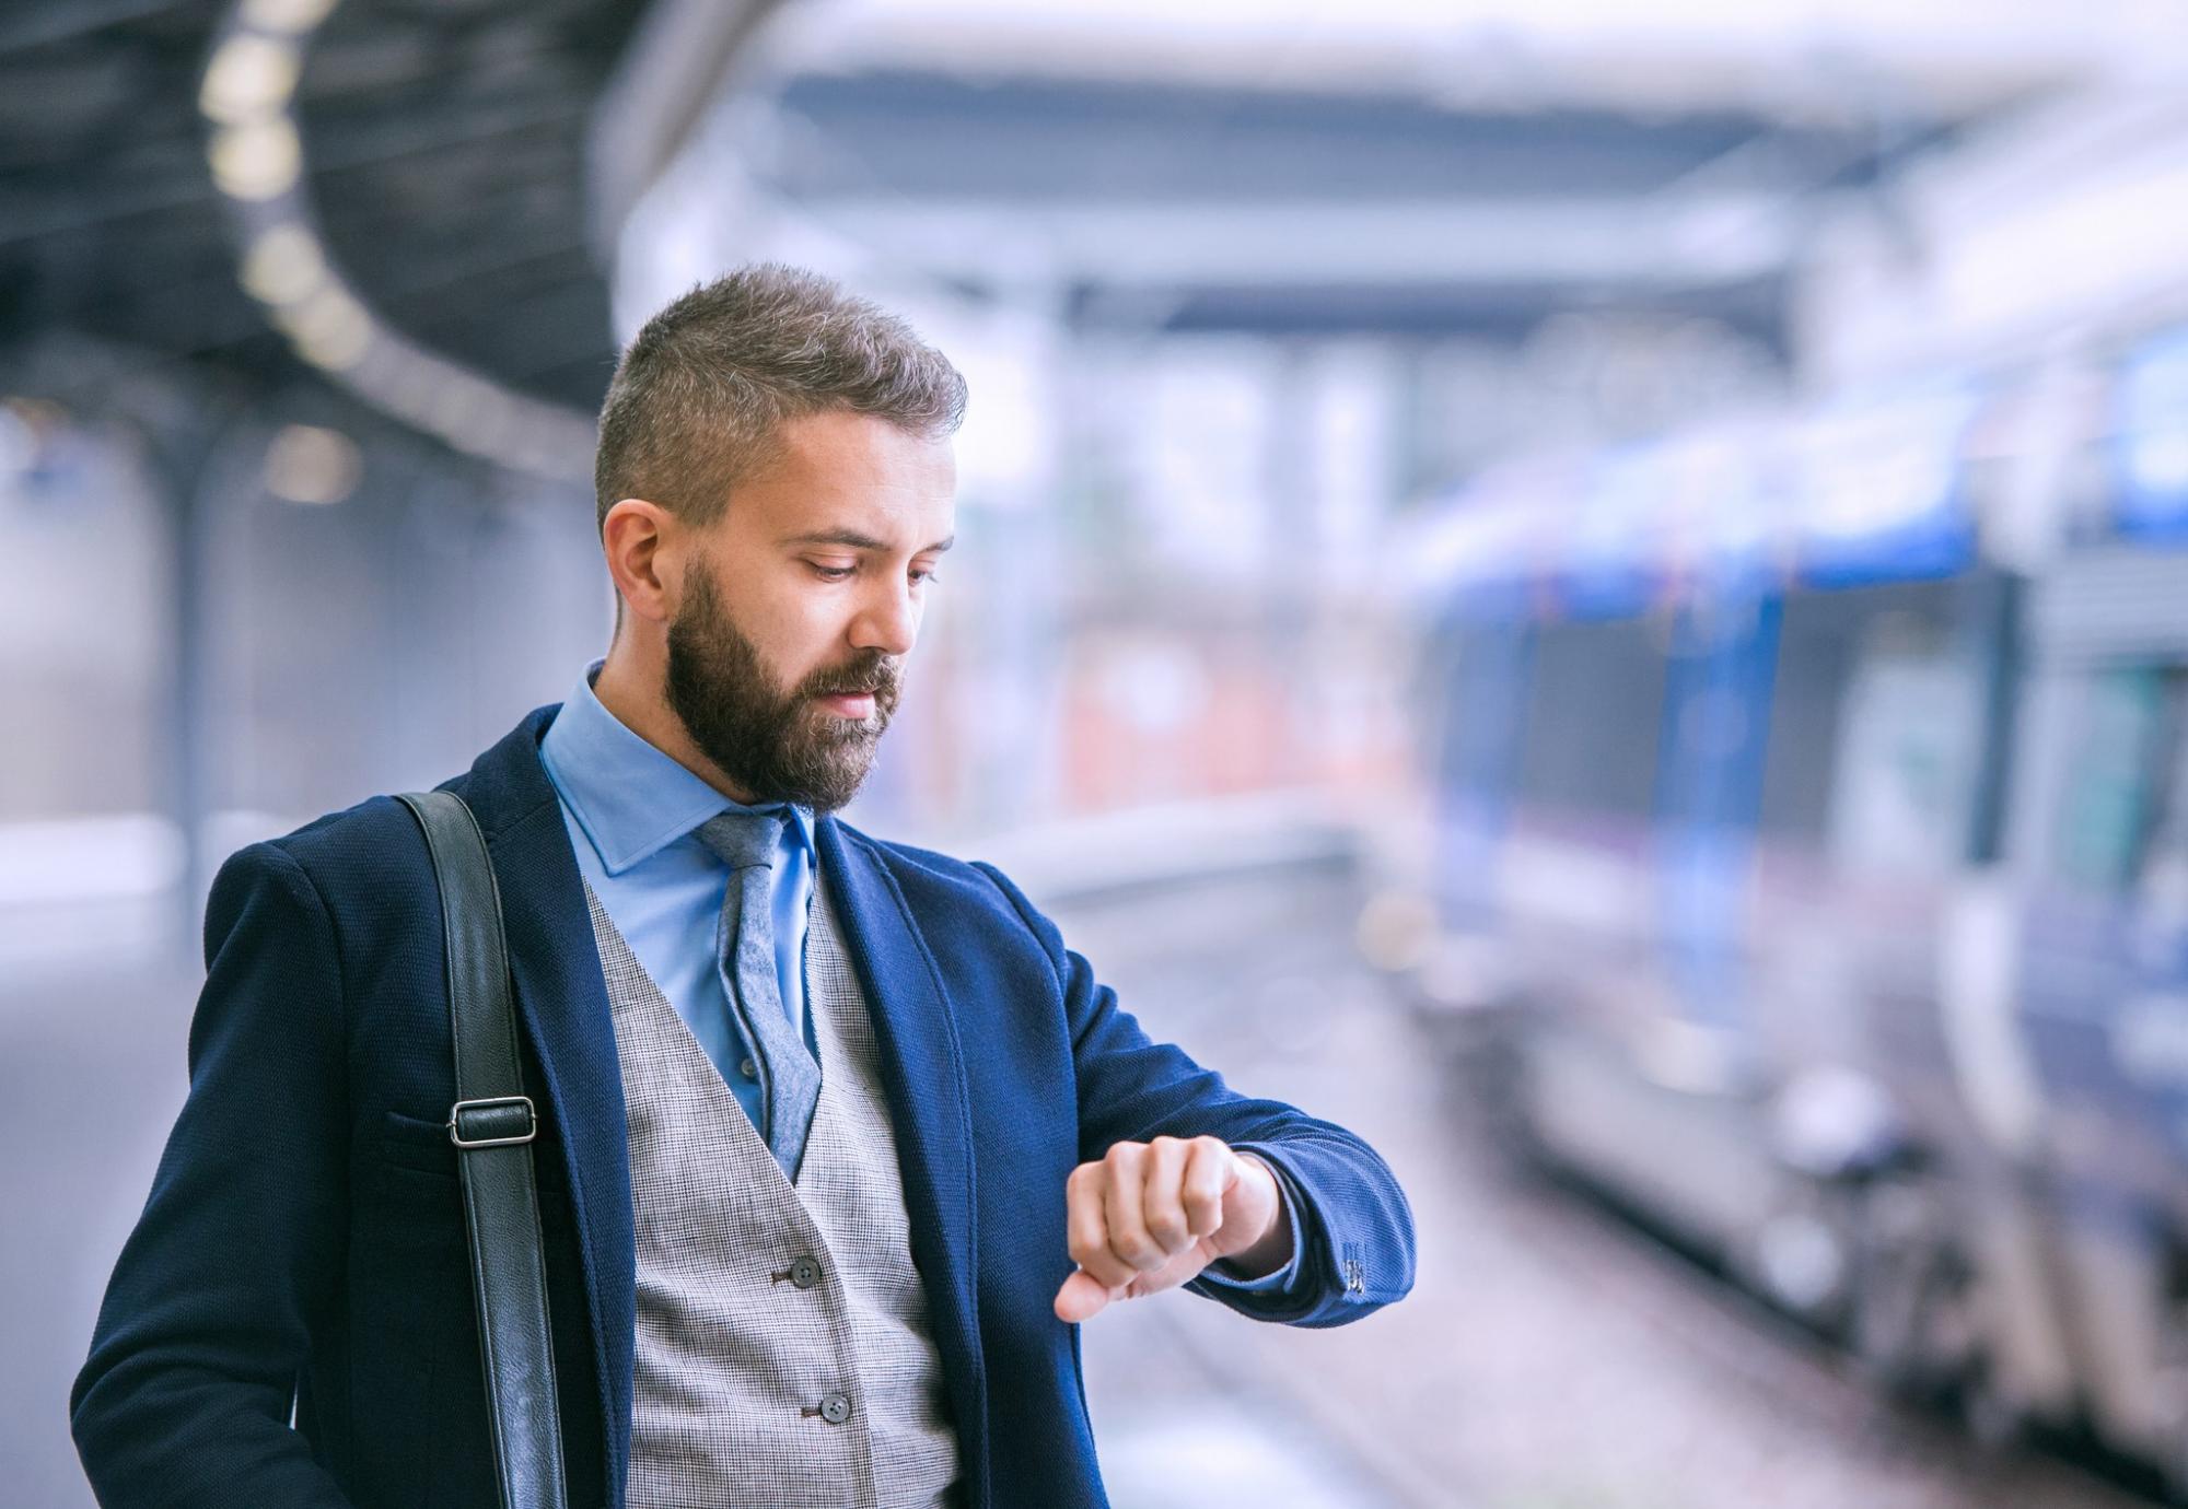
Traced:
[[501, 888], [516, 1013], [538, 1052], [549, 1115], [562, 1133], [606, 1417], [608, 1502], [621, 1505], [637, 1347], [630, 1139], [615, 1015], [593, 947], [584, 881], [538, 752], [558, 706], [529, 713], [451, 785], [486, 833]]

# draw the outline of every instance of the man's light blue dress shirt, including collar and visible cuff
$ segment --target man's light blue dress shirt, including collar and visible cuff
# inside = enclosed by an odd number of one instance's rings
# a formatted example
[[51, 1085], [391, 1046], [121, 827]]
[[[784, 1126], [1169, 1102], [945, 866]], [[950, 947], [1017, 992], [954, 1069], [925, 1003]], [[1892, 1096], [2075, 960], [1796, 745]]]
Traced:
[[[702, 822], [740, 809], [742, 803], [715, 792], [602, 706], [593, 695], [602, 665], [604, 660], [593, 660], [584, 669], [540, 739], [540, 761], [560, 798], [578, 870], [735, 1091], [753, 1126], [766, 1126], [759, 1080], [742, 1072], [750, 1050], [729, 1008], [713, 956], [729, 866], [698, 842]], [[783, 1010], [799, 1023], [805, 1045], [814, 1048], [812, 1013], [805, 1008], [805, 923], [818, 881], [818, 855], [812, 811], [792, 805], [790, 814], [796, 820], [783, 824], [768, 881], [775, 901], [775, 978], [783, 989]], [[814, 1056], [818, 1058], [818, 1050]], [[1225, 1266], [1210, 1264], [1201, 1277], [1212, 1284], [1276, 1290], [1300, 1273], [1300, 1192], [1276, 1155], [1265, 1161], [1276, 1170], [1284, 1218], [1291, 1223], [1291, 1262], [1260, 1279], [1238, 1279]]]

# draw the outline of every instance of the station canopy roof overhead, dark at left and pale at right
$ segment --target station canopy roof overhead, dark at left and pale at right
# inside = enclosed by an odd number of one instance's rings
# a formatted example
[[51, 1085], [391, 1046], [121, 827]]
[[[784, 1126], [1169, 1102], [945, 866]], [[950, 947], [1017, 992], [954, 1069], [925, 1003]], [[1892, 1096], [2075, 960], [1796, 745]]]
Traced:
[[[309, 20], [302, 182], [354, 295], [418, 348], [569, 413], [597, 407], [613, 367], [604, 208], [628, 208], [670, 147], [630, 149], [602, 114], [661, 94], [645, 85], [665, 72], [683, 96], [755, 101], [770, 147], [750, 166], [775, 192], [969, 286], [993, 271], [987, 227], [1033, 217], [1061, 227], [1081, 308], [1155, 295], [1177, 326], [1475, 328], [1619, 297], [1768, 324], [1799, 230], [1783, 203], [1873, 184], [1978, 114], [2164, 52], [2149, 26], [2179, 31], [2127, 2], [1639, 15], [1615, 0], [20, 4], [0, 17], [0, 348], [68, 328], [293, 365], [238, 286], [234, 206], [208, 166], [206, 66], [238, 17]], [[707, 46], [661, 44], [694, 33]], [[680, 103], [656, 136], [696, 129]], [[602, 151], [604, 125], [628, 151]]]

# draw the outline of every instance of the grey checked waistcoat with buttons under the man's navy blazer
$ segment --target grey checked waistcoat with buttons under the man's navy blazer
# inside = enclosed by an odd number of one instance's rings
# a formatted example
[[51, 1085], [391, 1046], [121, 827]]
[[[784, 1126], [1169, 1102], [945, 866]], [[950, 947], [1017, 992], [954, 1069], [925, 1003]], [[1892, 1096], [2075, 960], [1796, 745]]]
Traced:
[[873, 1019], [827, 886], [796, 1185], [586, 886], [615, 1013], [637, 1229], [628, 1509], [930, 1509], [956, 1432], [912, 1266]]

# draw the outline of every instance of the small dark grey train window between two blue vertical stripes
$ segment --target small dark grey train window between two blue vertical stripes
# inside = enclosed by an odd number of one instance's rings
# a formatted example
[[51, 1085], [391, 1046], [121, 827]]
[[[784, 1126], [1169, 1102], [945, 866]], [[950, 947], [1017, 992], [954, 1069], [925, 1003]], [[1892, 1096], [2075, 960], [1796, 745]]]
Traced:
[[1669, 630], [1663, 619], [1536, 630], [1518, 792], [1532, 807], [1608, 818], [1654, 809]]

